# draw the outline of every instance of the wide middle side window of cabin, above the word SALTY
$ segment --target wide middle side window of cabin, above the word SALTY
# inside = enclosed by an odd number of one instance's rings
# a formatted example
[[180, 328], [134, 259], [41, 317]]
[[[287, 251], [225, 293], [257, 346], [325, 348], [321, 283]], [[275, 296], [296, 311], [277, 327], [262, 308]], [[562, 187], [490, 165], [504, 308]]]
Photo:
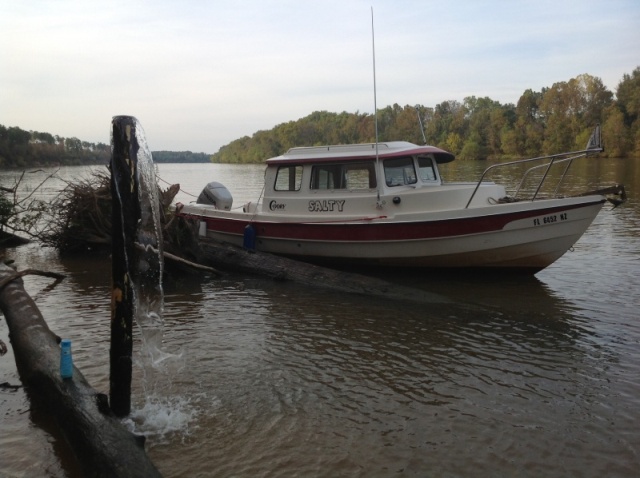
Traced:
[[311, 189], [373, 189], [376, 174], [373, 162], [321, 164], [311, 169]]

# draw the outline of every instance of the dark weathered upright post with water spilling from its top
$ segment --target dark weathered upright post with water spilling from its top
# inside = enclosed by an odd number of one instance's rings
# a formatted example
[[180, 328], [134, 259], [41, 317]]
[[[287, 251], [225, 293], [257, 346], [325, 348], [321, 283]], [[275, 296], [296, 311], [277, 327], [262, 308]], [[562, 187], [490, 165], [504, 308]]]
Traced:
[[131, 278], [135, 254], [136, 225], [140, 219], [138, 201], [137, 121], [132, 116], [115, 116], [111, 121], [111, 348], [109, 398], [119, 417], [131, 411], [134, 291]]

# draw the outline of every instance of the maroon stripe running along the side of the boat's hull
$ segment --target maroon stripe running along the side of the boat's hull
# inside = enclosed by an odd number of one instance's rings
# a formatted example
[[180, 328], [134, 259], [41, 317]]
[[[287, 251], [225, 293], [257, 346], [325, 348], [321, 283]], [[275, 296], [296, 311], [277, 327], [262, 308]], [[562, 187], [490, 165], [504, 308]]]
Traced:
[[[601, 201], [598, 201], [601, 202]], [[194, 215], [188, 217], [205, 221], [207, 229], [224, 233], [243, 235], [244, 228], [252, 224], [256, 235], [262, 238], [288, 239], [301, 241], [398, 241], [436, 237], [464, 236], [499, 231], [507, 224], [530, 217], [557, 214], [571, 209], [592, 206], [598, 202], [559, 206], [531, 211], [519, 211], [495, 214], [483, 217], [445, 219], [422, 222], [364, 222], [364, 223], [302, 223], [302, 222], [262, 222], [228, 218], [211, 218]]]

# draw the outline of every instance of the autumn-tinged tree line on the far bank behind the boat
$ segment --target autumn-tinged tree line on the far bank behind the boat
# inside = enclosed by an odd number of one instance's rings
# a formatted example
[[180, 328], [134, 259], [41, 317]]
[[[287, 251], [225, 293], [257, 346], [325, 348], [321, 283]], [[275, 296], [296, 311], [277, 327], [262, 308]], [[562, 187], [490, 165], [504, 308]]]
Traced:
[[[428, 143], [461, 159], [514, 159], [583, 149], [596, 124], [608, 157], [640, 157], [640, 67], [615, 92], [582, 74], [541, 91], [526, 90], [517, 104], [470, 96], [435, 107], [394, 104], [378, 110], [380, 141]], [[375, 117], [316, 111], [223, 146], [215, 163], [254, 163], [294, 146], [375, 141]]]

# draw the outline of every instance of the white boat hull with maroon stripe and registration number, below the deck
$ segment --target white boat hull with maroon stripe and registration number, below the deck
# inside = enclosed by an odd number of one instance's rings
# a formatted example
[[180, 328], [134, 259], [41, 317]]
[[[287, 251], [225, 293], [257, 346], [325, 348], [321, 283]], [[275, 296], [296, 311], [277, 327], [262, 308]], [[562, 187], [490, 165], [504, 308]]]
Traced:
[[190, 214], [207, 236], [243, 245], [251, 224], [256, 249], [315, 262], [402, 268], [505, 268], [536, 272], [582, 236], [602, 196], [493, 205], [403, 220], [301, 222], [260, 215]]

